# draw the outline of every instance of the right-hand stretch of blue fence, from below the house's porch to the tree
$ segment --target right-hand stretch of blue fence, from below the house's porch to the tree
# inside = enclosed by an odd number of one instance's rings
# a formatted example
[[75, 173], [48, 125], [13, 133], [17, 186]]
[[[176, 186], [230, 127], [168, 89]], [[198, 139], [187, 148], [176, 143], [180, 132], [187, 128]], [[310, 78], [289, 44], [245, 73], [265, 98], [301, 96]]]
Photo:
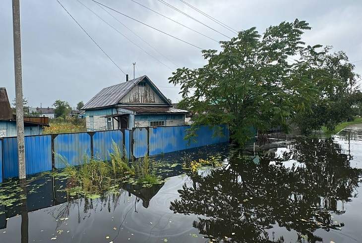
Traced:
[[229, 129], [221, 126], [198, 126], [196, 136], [190, 140], [184, 137], [190, 126], [148, 127], [133, 129], [133, 156], [156, 155], [188, 148], [229, 142]]

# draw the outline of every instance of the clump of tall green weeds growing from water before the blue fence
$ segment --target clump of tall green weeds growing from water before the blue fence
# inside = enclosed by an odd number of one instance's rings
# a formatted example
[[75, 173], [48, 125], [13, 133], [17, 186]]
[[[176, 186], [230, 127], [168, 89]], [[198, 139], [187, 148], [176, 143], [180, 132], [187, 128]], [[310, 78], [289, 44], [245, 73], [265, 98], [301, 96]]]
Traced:
[[[112, 142], [111, 161], [84, 158], [81, 166], [70, 166], [64, 158], [60, 160], [66, 165], [64, 174], [68, 177], [66, 191], [70, 195], [82, 194], [90, 198], [97, 198], [111, 189], [118, 192], [120, 182], [152, 186], [162, 183], [156, 175], [156, 162], [145, 156], [142, 160], [128, 165], [128, 160], [122, 156], [120, 148]], [[135, 178], [134, 178], [135, 177]], [[117, 187], [117, 188], [115, 188]]]

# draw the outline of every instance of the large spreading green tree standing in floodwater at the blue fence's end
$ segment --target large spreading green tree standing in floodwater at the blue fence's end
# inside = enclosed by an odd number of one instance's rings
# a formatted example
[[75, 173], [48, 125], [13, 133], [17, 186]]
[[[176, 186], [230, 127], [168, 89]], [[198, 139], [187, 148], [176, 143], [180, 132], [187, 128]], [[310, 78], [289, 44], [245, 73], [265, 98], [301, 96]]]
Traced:
[[[230, 41], [221, 41], [219, 53], [203, 50], [208, 60], [203, 67], [177, 69], [169, 81], [181, 85], [181, 103], [197, 115], [193, 128], [228, 124], [231, 138], [243, 144], [253, 136], [251, 127], [260, 132], [273, 126], [286, 127], [286, 118], [296, 106], [317, 92], [309, 79], [291, 80], [306, 61], [291, 64], [287, 60], [301, 52], [319, 54], [319, 45], [305, 47], [301, 41], [309, 29], [308, 23], [298, 19], [271, 26], [263, 35], [253, 27]], [[297, 99], [295, 94], [302, 95]]]

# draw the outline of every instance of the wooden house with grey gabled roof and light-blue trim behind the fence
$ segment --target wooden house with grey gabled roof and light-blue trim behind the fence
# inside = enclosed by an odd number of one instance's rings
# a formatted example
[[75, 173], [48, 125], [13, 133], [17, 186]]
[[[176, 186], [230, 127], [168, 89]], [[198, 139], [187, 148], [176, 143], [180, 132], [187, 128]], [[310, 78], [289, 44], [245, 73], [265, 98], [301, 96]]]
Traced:
[[87, 131], [182, 126], [188, 113], [173, 108], [147, 76], [128, 80], [128, 75], [126, 82], [101, 90], [82, 110]]

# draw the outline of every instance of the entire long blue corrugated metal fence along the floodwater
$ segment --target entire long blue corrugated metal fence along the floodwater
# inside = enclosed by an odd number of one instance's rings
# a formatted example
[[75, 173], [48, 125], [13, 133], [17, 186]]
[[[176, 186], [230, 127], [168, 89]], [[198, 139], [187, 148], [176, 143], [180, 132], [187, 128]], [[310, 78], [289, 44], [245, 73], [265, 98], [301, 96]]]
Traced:
[[[80, 165], [85, 158], [110, 160], [112, 141], [130, 159], [187, 148], [229, 142], [227, 126], [199, 126], [196, 137], [184, 140], [189, 126], [144, 127], [133, 130], [66, 133], [25, 136], [26, 174], [32, 175], [69, 165]], [[221, 131], [221, 134], [215, 134]], [[52, 153], [53, 151], [53, 153]], [[0, 139], [0, 183], [18, 176], [17, 139]]]

